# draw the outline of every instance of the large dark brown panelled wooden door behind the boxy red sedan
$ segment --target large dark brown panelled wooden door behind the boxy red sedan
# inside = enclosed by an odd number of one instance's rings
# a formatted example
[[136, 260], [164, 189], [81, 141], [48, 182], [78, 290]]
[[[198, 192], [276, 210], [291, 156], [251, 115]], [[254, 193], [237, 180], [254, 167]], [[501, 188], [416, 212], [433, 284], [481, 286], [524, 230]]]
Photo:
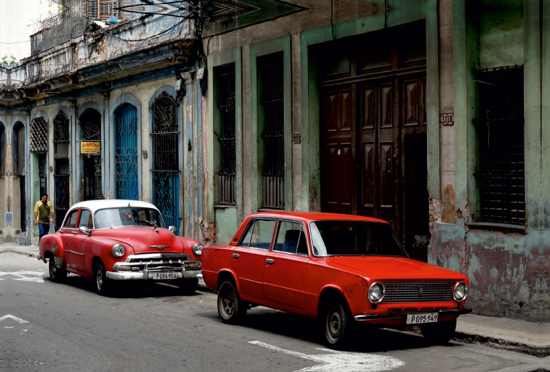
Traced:
[[320, 113], [322, 210], [387, 220], [425, 260], [426, 74], [325, 84]]

